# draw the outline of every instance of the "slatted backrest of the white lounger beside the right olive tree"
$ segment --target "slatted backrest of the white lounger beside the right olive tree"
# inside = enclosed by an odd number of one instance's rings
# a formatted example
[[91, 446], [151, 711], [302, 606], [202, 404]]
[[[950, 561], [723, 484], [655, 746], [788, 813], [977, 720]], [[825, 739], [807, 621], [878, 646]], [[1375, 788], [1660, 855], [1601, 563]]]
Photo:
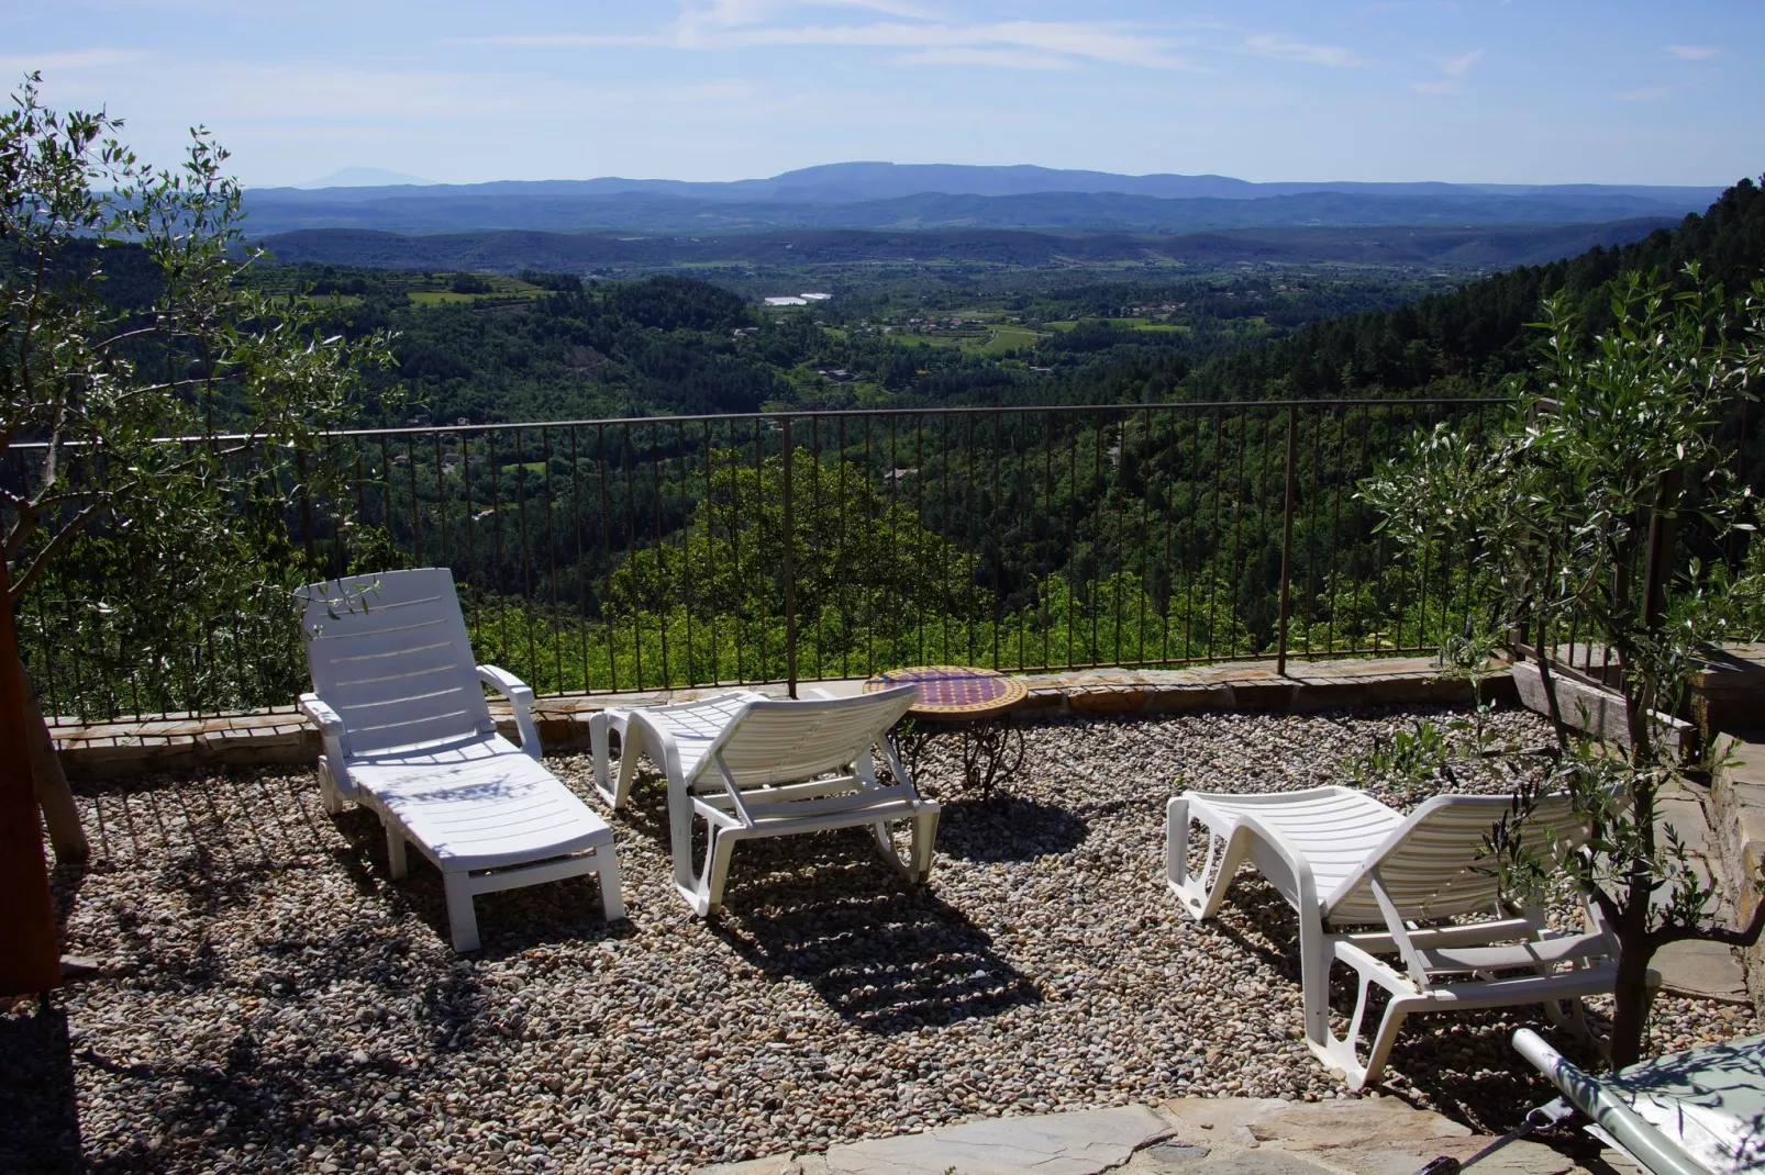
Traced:
[[[1382, 923], [1371, 880], [1377, 875], [1405, 919], [1456, 917], [1495, 909], [1500, 879], [1484, 856], [1484, 836], [1513, 812], [1509, 796], [1435, 796], [1391, 829], [1368, 861], [1331, 894], [1320, 894], [1324, 919], [1340, 926]], [[1543, 857], [1585, 840], [1564, 794], [1544, 796], [1523, 824], [1521, 843]]]

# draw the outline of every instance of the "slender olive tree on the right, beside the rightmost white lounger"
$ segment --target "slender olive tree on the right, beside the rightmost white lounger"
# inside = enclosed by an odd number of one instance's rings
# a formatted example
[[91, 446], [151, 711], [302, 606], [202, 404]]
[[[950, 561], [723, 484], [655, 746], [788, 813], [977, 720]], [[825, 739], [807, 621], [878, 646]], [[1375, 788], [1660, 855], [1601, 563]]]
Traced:
[[[1491, 632], [1530, 649], [1557, 741], [1539, 787], [1567, 790], [1588, 827], [1555, 868], [1516, 815], [1490, 836], [1491, 870], [1537, 894], [1585, 894], [1620, 946], [1610, 1053], [1641, 1052], [1654, 953], [1677, 940], [1758, 940], [1765, 905], [1744, 928], [1716, 923], [1717, 894], [1659, 827], [1661, 787], [1694, 769], [1663, 718], [1680, 707], [1698, 649], [1735, 635], [1756, 612], [1758, 575], [1698, 559], [1705, 543], [1753, 529], [1753, 499], [1719, 434], [1751, 399], [1765, 365], [1765, 288], [1728, 298], [1687, 268], [1679, 291], [1631, 273], [1613, 326], [1581, 346], [1566, 296], [1544, 305], [1541, 362], [1516, 386], [1516, 409], [1491, 438], [1440, 427], [1363, 483], [1382, 526], [1407, 545], [1477, 552], [1491, 584]], [[1747, 603], [1751, 607], [1740, 607]], [[1564, 633], [1604, 646], [1622, 667], [1627, 746], [1578, 737], [1560, 709], [1553, 649]]]

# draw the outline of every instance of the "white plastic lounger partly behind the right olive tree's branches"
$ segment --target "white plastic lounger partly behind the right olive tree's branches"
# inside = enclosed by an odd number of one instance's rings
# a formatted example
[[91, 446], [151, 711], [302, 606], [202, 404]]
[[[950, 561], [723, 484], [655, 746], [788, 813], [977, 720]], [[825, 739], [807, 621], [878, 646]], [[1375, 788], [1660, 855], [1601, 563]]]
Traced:
[[[1562, 1023], [1558, 1000], [1610, 992], [1617, 942], [1588, 909], [1592, 930], [1548, 930], [1539, 910], [1498, 907], [1498, 884], [1479, 872], [1483, 838], [1507, 812], [1506, 796], [1435, 796], [1408, 817], [1366, 792], [1313, 787], [1303, 792], [1223, 796], [1184, 792], [1165, 817], [1170, 889], [1197, 919], [1225, 902], [1239, 864], [1253, 863], [1299, 912], [1304, 1029], [1311, 1052], [1363, 1089], [1386, 1067], [1410, 1013], [1544, 1004]], [[1207, 859], [1188, 872], [1190, 822], [1207, 834]], [[1569, 801], [1551, 796], [1527, 824], [1555, 852], [1580, 843]], [[1546, 833], [1548, 829], [1548, 833]], [[1534, 842], [1537, 843], [1537, 842]], [[1486, 916], [1461, 924], [1447, 919]], [[1493, 917], [1488, 917], [1493, 916]], [[1350, 926], [1380, 930], [1347, 932]], [[1396, 954], [1393, 965], [1378, 954]], [[1348, 1032], [1329, 1027], [1329, 970], [1345, 963], [1359, 992]], [[1521, 974], [1513, 974], [1521, 972]], [[1391, 993], [1364, 1060], [1357, 1055], [1368, 992]]]

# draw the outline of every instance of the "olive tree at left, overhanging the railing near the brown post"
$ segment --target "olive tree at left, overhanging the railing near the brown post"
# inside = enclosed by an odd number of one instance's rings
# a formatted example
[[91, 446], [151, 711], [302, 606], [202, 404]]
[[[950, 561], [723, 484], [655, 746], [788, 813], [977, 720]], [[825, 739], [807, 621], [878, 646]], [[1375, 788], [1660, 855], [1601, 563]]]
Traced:
[[[48, 109], [39, 81], [0, 115], [7, 605], [90, 543], [129, 568], [106, 591], [136, 609], [249, 595], [263, 561], [240, 503], [289, 492], [263, 476], [265, 455], [323, 453], [385, 339], [327, 335], [318, 307], [247, 281], [265, 254], [244, 238], [240, 187], [205, 131], [180, 166], [154, 168], [116, 138], [122, 120]], [[34, 727], [49, 838], [58, 857], [83, 857], [41, 716]]]

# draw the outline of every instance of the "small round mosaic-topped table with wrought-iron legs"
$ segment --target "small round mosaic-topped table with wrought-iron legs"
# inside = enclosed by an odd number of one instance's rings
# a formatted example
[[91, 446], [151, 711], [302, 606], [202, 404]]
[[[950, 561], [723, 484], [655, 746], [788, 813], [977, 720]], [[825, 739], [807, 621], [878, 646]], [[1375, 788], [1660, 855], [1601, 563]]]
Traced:
[[865, 693], [898, 685], [920, 686], [920, 700], [895, 727], [895, 748], [918, 775], [920, 755], [939, 734], [960, 727], [962, 780], [992, 796], [994, 783], [1024, 766], [1024, 732], [1011, 720], [1029, 697], [1029, 686], [992, 669], [969, 665], [913, 665], [865, 681]]

